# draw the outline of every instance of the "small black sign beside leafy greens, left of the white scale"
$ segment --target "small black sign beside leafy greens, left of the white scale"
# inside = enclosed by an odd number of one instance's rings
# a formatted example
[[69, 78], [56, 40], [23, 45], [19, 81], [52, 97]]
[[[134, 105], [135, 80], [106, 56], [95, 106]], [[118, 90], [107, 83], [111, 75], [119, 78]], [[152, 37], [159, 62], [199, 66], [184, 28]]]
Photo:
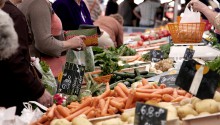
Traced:
[[150, 59], [152, 62], [159, 62], [163, 59], [163, 52], [161, 52], [160, 50], [151, 50]]

